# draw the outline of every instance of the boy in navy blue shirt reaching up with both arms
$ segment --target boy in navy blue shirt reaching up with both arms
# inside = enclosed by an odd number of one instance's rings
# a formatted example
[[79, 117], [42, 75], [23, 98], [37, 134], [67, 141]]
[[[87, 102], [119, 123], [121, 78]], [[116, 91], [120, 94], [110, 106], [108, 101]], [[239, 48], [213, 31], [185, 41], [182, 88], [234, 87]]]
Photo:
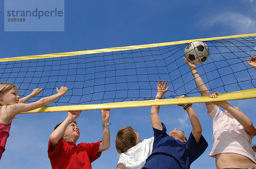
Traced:
[[[169, 87], [166, 88], [166, 84], [167, 82], [164, 81], [158, 82], [156, 99], [162, 99], [163, 94], [168, 91]], [[190, 164], [207, 148], [207, 141], [201, 135], [202, 127], [192, 104], [180, 104], [179, 106], [183, 106], [187, 111], [192, 124], [193, 130], [189, 139], [186, 138], [183, 131], [177, 130], [177, 128], [168, 135], [165, 125], [161, 123], [158, 116], [160, 106], [152, 106], [150, 116], [154, 131], [153, 150], [143, 169], [189, 169]]]

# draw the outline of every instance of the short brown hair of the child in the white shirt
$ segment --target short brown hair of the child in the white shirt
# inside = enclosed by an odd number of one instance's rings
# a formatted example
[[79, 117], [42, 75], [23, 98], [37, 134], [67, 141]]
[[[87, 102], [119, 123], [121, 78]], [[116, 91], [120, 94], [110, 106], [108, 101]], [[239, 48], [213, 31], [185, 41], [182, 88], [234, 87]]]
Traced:
[[116, 150], [118, 153], [126, 152], [136, 146], [136, 133], [130, 126], [123, 127], [116, 133]]

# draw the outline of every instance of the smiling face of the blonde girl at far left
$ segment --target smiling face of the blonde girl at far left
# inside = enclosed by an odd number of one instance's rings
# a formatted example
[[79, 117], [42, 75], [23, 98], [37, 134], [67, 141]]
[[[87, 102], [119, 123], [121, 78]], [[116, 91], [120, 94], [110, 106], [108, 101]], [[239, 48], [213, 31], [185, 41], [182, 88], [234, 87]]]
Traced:
[[18, 95], [18, 88], [14, 87], [11, 90], [7, 90], [6, 92], [2, 93], [0, 99], [4, 104], [19, 103], [20, 96]]

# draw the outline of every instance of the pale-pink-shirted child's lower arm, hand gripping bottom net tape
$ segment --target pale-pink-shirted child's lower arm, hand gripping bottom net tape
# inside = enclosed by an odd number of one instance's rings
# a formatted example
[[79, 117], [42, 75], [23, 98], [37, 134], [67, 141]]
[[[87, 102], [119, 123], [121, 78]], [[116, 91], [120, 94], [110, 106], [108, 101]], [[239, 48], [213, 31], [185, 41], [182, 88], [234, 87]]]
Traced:
[[[216, 98], [218, 94], [220, 93], [215, 92], [212, 95], [210, 95], [210, 97]], [[245, 115], [241, 110], [239, 110], [238, 107], [237, 108], [233, 107], [227, 101], [218, 101], [218, 102], [212, 102], [212, 103], [227, 110], [244, 127], [244, 130], [249, 135], [256, 134], [256, 129], [253, 126], [253, 122], [250, 120], [250, 118], [247, 117], [247, 115]]]

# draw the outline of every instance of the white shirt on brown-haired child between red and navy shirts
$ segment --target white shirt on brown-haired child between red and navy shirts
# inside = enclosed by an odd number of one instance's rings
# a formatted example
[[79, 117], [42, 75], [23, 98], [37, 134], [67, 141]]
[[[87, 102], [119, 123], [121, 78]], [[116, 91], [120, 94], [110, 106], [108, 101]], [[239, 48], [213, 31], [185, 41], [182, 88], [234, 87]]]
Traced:
[[118, 163], [123, 163], [125, 169], [141, 169], [153, 149], [154, 137], [148, 138], [117, 156]]

